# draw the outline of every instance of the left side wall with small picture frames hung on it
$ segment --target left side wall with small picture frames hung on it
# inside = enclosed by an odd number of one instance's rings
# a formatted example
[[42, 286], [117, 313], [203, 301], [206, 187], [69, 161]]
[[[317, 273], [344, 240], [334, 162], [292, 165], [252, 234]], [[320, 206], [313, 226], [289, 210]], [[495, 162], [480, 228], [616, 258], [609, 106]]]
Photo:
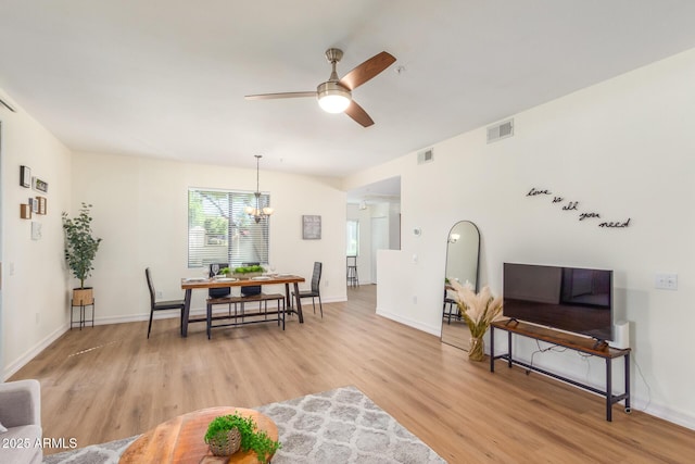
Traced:
[[[3, 379], [60, 336], [70, 322], [61, 212], [70, 204], [71, 154], [22, 108], [16, 110], [12, 113], [0, 105]], [[21, 165], [49, 183], [47, 195], [20, 186]], [[20, 204], [38, 195], [47, 198], [48, 214], [20, 218]], [[41, 224], [40, 240], [31, 240], [33, 221]]]

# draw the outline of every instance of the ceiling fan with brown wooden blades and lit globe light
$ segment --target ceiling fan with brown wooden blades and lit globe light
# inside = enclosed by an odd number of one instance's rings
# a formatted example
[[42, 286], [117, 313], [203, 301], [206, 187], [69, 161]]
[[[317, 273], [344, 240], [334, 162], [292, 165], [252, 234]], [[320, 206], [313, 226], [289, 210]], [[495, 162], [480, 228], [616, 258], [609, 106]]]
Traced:
[[344, 112], [356, 123], [364, 127], [369, 127], [374, 124], [374, 121], [367, 112], [352, 99], [352, 91], [393, 64], [395, 58], [393, 58], [391, 53], [382, 51], [339, 79], [336, 65], [342, 58], [343, 51], [340, 49], [329, 48], [326, 50], [326, 59], [331, 64], [333, 71], [330, 73], [327, 81], [316, 87], [316, 91], [248, 95], [244, 98], [247, 100], [268, 100], [275, 98], [316, 97], [318, 98], [318, 104], [324, 111], [328, 113]]

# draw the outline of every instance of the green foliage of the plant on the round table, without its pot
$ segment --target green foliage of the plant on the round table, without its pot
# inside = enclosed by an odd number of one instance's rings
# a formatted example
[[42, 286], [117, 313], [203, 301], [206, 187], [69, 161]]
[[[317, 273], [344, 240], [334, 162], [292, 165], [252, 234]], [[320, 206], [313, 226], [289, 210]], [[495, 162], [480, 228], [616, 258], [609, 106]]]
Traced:
[[235, 414], [215, 417], [205, 432], [205, 443], [214, 441], [217, 437], [224, 439], [227, 431], [236, 428], [241, 435], [241, 451], [253, 451], [258, 462], [266, 464], [268, 459], [281, 448], [279, 441], [268, 437], [265, 430], [258, 430], [253, 417], [245, 417], [238, 411]]

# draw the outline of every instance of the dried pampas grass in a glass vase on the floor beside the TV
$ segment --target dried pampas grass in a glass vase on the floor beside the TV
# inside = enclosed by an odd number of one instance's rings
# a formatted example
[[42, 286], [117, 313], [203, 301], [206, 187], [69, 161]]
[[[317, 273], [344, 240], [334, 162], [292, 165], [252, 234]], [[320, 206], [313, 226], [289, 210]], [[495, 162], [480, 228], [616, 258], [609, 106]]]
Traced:
[[472, 285], [462, 285], [458, 280], [446, 279], [451, 286], [452, 298], [458, 305], [458, 312], [470, 330], [470, 348], [468, 359], [482, 361], [485, 359], [483, 335], [488, 331], [490, 323], [502, 316], [502, 297], [494, 297], [490, 287], [484, 286], [476, 293]]

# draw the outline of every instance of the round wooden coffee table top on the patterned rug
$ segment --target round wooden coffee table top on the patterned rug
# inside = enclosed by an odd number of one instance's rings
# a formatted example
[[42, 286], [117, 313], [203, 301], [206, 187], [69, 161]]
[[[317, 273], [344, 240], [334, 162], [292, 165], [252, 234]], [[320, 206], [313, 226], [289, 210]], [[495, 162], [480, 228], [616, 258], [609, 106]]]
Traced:
[[204, 437], [207, 424], [217, 416], [238, 412], [244, 417], [253, 417], [260, 430], [265, 430], [273, 440], [278, 439], [278, 427], [266, 415], [243, 407], [210, 407], [193, 411], [162, 423], [146, 431], [135, 440], [121, 456], [121, 464], [176, 463], [257, 463], [253, 451], [237, 451], [231, 456], [214, 456]]

